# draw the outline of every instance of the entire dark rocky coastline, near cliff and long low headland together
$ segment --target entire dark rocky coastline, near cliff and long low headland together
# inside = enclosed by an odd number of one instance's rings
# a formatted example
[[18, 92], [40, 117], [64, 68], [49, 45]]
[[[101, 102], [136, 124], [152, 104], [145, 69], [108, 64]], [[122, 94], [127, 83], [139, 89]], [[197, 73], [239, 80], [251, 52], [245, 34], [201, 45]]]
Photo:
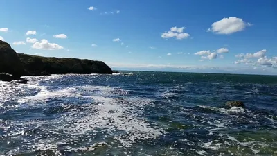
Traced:
[[[104, 73], [113, 71], [102, 61], [77, 58], [46, 58], [36, 55], [16, 53], [10, 44], [0, 40], [0, 80], [20, 80], [21, 76], [50, 76], [66, 73]], [[6, 73], [11, 74], [7, 75]], [[20, 81], [25, 83], [26, 80]]]

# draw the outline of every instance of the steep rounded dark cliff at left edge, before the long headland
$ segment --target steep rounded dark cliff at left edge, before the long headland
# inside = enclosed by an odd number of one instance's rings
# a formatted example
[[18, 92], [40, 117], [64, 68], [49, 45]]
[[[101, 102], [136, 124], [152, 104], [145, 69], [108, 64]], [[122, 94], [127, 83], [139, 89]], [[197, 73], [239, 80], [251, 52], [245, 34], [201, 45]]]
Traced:
[[17, 53], [10, 44], [0, 40], [0, 73], [10, 73], [15, 78], [23, 75], [24, 69], [20, 63]]

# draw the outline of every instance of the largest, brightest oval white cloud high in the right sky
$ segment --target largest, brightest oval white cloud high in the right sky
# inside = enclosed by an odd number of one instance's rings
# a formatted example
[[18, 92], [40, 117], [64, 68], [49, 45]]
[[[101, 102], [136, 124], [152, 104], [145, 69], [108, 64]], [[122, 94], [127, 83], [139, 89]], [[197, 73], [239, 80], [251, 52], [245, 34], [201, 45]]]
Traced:
[[244, 22], [243, 19], [238, 17], [229, 17], [214, 22], [211, 28], [208, 28], [208, 31], [217, 34], [231, 34], [243, 31], [246, 26], [251, 26], [251, 24]]

